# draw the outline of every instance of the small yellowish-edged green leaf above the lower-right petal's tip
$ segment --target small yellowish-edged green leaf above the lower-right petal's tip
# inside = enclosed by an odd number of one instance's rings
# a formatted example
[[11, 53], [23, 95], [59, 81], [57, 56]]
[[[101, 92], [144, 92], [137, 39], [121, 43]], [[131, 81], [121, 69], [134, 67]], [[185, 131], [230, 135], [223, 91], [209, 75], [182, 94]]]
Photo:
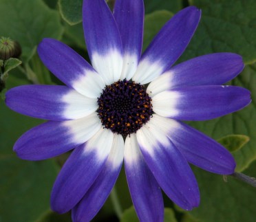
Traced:
[[249, 142], [250, 138], [246, 135], [226, 135], [217, 142], [225, 146], [228, 151], [235, 152]]

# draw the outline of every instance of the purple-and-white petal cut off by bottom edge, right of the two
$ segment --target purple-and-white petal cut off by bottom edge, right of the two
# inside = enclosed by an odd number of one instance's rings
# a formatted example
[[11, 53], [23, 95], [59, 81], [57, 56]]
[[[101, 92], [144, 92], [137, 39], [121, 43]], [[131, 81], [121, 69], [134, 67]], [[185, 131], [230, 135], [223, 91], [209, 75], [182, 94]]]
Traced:
[[163, 221], [162, 192], [142, 157], [135, 134], [125, 140], [125, 174], [140, 221]]

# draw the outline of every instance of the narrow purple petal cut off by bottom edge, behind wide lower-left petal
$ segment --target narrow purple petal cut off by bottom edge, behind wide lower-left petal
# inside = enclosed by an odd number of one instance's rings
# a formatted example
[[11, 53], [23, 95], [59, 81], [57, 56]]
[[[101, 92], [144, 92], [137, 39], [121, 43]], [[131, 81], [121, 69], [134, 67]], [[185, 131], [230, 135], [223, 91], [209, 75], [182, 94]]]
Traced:
[[103, 170], [83, 199], [72, 209], [73, 221], [91, 221], [105, 203], [122, 167], [124, 156], [124, 140], [121, 135], [114, 134], [109, 157]]

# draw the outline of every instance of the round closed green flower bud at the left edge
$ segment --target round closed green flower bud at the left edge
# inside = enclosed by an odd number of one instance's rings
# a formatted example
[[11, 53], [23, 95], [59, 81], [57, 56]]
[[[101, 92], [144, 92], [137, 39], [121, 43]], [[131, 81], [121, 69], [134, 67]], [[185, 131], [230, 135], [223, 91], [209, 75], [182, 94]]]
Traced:
[[0, 59], [18, 58], [21, 55], [21, 45], [10, 38], [0, 38]]

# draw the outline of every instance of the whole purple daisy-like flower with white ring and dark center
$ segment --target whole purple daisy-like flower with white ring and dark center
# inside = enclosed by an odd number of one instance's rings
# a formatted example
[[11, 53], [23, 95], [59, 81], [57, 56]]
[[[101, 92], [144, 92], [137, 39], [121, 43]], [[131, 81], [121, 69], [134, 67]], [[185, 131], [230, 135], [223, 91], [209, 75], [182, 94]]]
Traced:
[[41, 60], [67, 86], [16, 87], [6, 93], [6, 104], [50, 120], [16, 142], [21, 159], [47, 159], [74, 148], [52, 189], [52, 210], [72, 210], [73, 221], [91, 220], [123, 159], [140, 221], [163, 221], [160, 188], [185, 210], [198, 206], [189, 163], [213, 173], [234, 172], [235, 161], [225, 148], [180, 122], [210, 120], [250, 103], [248, 90], [222, 85], [244, 68], [237, 54], [209, 54], [171, 67], [200, 14], [194, 6], [175, 14], [140, 57], [143, 1], [117, 0], [112, 14], [105, 0], [84, 0], [92, 66], [59, 41], [45, 38], [39, 44]]

